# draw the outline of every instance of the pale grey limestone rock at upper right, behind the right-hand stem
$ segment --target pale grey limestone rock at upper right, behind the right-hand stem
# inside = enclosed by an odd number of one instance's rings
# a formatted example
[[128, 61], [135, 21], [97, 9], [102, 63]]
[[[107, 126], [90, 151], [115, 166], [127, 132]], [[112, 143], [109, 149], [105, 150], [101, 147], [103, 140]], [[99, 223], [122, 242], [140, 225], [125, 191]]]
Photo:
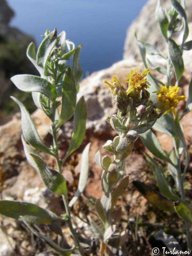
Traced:
[[[131, 26], [127, 29], [127, 36], [124, 43], [124, 54], [123, 59], [134, 58], [140, 60], [140, 52], [134, 38], [134, 33], [137, 31], [137, 38], [140, 41], [148, 42], [154, 45], [160, 52], [167, 55], [167, 48], [165, 47], [165, 40], [162, 36], [159, 25], [155, 20], [155, 9], [156, 0], [148, 0], [148, 2], [142, 8], [139, 16], [132, 22]], [[170, 1], [161, 0], [163, 9], [171, 6]], [[192, 2], [186, 1], [186, 12], [188, 16], [188, 22], [192, 21]], [[192, 28], [189, 28], [192, 33]], [[179, 35], [176, 36], [175, 40], [179, 40]], [[188, 37], [191, 40], [191, 35]], [[178, 42], [179, 43], [179, 42]], [[186, 54], [191, 54], [191, 51], [186, 51]], [[159, 57], [158, 57], [159, 58]], [[185, 56], [184, 56], [185, 58]], [[188, 68], [186, 66], [186, 68]], [[190, 70], [190, 72], [192, 69]]]

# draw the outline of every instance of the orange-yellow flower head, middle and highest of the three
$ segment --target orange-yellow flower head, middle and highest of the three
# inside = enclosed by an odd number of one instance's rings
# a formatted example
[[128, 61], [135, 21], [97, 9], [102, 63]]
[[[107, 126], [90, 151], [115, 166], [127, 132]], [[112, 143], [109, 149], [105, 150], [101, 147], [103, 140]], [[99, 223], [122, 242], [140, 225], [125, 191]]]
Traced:
[[135, 69], [135, 71], [130, 71], [130, 74], [127, 74], [127, 79], [129, 79], [128, 81], [125, 81], [128, 84], [128, 90], [127, 90], [127, 95], [135, 90], [138, 94], [138, 96], [140, 97], [140, 91], [143, 91], [144, 88], [149, 88], [149, 83], [147, 82], [145, 78], [145, 76], [147, 76], [147, 74], [149, 73], [148, 69], [145, 69], [143, 72], [137, 74], [137, 68]]

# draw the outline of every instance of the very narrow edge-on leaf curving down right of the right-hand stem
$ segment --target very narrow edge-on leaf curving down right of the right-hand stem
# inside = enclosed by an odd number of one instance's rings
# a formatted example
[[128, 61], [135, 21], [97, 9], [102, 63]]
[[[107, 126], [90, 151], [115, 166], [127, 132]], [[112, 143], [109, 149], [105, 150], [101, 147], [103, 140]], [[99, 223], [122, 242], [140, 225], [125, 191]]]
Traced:
[[[187, 144], [186, 144], [186, 141], [185, 141], [185, 138], [184, 138], [184, 134], [183, 134], [183, 129], [181, 127], [181, 124], [180, 124], [178, 116], [175, 117], [174, 124], [175, 124], [175, 130], [177, 132], [177, 135], [180, 138], [180, 140], [182, 141], [183, 146], [184, 146], [184, 150], [185, 150], [185, 168], [184, 168], [184, 171], [183, 171], [183, 174], [182, 174], [184, 176], [185, 173], [186, 173], [188, 164], [189, 164], [188, 148], [187, 148]], [[179, 148], [178, 148], [178, 151], [179, 151]]]

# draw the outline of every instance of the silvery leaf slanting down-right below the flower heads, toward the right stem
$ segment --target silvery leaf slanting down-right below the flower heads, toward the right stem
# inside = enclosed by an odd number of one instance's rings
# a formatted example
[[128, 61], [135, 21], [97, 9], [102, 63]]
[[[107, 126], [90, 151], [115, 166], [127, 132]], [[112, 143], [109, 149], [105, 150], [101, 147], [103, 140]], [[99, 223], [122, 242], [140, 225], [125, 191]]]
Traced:
[[151, 130], [140, 134], [140, 139], [154, 156], [172, 164], [172, 161], [169, 159], [166, 152], [163, 150], [159, 141], [157, 140], [157, 137]]

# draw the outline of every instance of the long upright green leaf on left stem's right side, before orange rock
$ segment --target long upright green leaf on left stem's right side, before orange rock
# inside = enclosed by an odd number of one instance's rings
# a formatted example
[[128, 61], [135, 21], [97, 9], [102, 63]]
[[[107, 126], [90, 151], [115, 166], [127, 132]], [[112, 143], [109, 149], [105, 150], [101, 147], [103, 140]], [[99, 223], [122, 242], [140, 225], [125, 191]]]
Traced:
[[82, 143], [86, 131], [87, 108], [84, 96], [76, 104], [74, 113], [74, 130], [71, 142], [63, 162], [70, 156]]

